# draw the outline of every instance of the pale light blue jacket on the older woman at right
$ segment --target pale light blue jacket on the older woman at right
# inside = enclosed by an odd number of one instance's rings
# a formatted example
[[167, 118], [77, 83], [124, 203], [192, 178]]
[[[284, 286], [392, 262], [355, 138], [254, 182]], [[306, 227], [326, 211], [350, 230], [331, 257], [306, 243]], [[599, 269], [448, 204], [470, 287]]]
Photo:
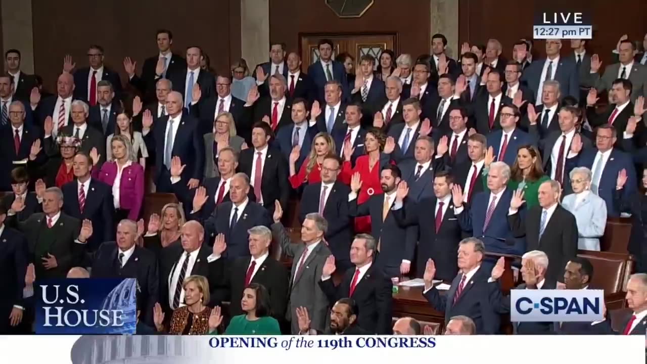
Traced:
[[600, 251], [600, 236], [604, 235], [606, 227], [606, 202], [593, 192], [575, 206], [577, 194], [564, 197], [562, 207], [575, 215], [579, 238], [577, 248], [581, 250]]

